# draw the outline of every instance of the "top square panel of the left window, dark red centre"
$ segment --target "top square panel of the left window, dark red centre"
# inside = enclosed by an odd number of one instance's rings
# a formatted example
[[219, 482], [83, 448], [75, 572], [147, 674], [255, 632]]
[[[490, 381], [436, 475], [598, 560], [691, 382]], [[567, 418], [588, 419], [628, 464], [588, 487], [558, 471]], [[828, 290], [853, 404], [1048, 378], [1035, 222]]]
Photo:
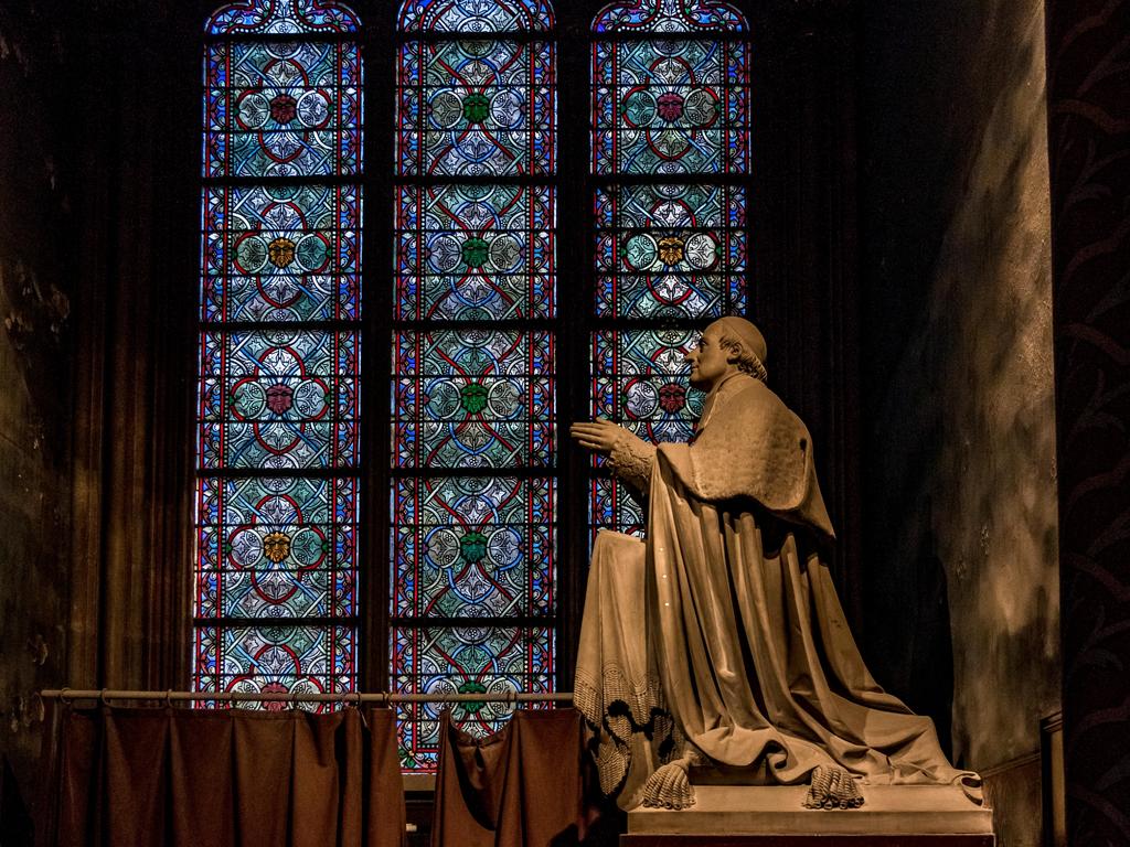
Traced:
[[208, 47], [206, 176], [360, 172], [360, 54], [345, 42]]

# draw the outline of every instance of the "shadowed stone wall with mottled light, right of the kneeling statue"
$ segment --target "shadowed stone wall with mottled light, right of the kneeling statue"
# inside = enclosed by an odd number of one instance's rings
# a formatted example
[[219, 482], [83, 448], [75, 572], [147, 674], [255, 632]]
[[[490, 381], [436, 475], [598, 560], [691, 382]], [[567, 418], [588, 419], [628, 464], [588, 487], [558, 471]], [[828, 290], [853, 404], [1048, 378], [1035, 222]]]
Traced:
[[869, 3], [860, 79], [867, 654], [1035, 846], [1008, 786], [1060, 702], [1043, 3]]

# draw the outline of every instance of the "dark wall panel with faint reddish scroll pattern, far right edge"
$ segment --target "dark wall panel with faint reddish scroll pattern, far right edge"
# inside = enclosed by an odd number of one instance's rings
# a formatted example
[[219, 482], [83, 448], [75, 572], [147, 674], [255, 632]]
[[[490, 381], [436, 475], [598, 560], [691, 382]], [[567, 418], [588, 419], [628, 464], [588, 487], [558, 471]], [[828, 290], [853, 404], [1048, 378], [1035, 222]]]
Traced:
[[1130, 1], [1048, 5], [1068, 836], [1130, 844]]

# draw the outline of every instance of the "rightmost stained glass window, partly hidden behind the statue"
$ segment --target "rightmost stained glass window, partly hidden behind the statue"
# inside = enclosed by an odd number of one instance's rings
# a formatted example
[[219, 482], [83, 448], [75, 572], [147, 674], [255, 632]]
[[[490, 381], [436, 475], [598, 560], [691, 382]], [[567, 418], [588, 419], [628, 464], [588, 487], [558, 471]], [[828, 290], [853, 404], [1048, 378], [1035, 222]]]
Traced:
[[[592, 413], [652, 442], [687, 440], [702, 396], [684, 353], [747, 309], [747, 26], [712, 0], [629, 0], [592, 41], [596, 302]], [[590, 524], [641, 533], [599, 461]]]

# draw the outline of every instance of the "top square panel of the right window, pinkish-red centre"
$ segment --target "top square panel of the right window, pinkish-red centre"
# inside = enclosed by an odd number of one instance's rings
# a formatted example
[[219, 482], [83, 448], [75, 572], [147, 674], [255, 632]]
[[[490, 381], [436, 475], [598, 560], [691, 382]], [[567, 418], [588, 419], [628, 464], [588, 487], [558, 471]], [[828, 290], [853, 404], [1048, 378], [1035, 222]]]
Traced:
[[679, 178], [748, 169], [742, 42], [594, 42], [592, 79], [593, 173]]

